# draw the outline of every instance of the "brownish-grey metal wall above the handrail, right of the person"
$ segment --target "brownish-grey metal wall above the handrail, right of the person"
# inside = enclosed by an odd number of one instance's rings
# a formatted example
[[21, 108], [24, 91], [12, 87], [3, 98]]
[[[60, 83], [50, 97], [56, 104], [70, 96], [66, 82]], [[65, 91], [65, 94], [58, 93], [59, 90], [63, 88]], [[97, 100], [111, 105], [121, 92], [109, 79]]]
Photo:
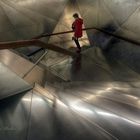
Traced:
[[[136, 41], [140, 40], [139, 0], [77, 0], [77, 4], [85, 27], [95, 26]], [[96, 33], [87, 33], [94, 45], [96, 40], [93, 37]]]

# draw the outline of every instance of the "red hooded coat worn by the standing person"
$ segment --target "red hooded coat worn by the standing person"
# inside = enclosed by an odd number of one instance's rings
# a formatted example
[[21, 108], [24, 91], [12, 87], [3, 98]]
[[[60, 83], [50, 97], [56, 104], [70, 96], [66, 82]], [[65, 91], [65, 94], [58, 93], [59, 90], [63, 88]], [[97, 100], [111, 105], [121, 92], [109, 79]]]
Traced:
[[80, 38], [83, 36], [82, 31], [83, 19], [78, 18], [72, 24], [72, 29], [74, 30], [74, 37]]

